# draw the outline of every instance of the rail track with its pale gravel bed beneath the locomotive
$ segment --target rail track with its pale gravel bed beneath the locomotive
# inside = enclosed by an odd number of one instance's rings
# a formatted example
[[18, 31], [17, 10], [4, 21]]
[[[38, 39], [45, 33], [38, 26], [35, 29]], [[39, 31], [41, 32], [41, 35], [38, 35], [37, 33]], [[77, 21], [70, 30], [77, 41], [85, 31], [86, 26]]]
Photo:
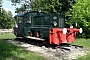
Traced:
[[[79, 56], [85, 55], [85, 48], [83, 46], [67, 43], [60, 45], [43, 44], [42, 41], [25, 38], [16, 38], [13, 43], [16, 41], [18, 41], [19, 46], [22, 46], [22, 43], [30, 44], [25, 48], [34, 52], [39, 52], [41, 55], [48, 56], [49, 58], [55, 58], [56, 60], [73, 60]], [[15, 43], [15, 45], [18, 43]]]

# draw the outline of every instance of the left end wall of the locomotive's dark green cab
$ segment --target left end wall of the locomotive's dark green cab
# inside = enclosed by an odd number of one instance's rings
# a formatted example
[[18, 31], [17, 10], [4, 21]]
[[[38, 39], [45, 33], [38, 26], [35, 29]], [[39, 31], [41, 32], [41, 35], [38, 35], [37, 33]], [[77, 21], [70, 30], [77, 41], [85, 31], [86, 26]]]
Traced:
[[23, 36], [23, 14], [18, 14], [14, 16], [14, 34], [17, 37]]

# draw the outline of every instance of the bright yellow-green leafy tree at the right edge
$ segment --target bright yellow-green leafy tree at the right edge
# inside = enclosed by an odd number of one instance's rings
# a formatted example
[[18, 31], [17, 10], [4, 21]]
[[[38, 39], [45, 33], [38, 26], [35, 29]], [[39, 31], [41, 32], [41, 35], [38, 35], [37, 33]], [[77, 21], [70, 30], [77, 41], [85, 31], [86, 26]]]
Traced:
[[76, 0], [76, 4], [71, 9], [71, 21], [77, 22], [78, 28], [83, 28], [83, 34], [89, 38], [90, 34], [90, 0]]

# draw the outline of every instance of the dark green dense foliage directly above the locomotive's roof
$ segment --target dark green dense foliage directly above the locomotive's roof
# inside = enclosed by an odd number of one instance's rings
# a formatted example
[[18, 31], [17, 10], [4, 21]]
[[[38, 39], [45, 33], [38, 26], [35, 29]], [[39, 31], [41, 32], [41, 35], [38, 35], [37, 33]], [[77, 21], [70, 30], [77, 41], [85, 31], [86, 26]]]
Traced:
[[65, 13], [71, 8], [70, 0], [35, 0], [31, 4], [32, 10], [42, 10], [43, 12]]

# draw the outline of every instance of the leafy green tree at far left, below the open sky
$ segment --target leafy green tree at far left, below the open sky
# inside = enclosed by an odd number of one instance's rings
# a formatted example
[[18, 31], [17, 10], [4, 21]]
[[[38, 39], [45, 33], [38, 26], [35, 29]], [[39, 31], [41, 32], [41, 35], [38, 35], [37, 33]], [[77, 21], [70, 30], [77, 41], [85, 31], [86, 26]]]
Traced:
[[3, 8], [0, 16], [0, 28], [12, 28], [13, 27], [13, 17], [11, 11], [6, 12]]

